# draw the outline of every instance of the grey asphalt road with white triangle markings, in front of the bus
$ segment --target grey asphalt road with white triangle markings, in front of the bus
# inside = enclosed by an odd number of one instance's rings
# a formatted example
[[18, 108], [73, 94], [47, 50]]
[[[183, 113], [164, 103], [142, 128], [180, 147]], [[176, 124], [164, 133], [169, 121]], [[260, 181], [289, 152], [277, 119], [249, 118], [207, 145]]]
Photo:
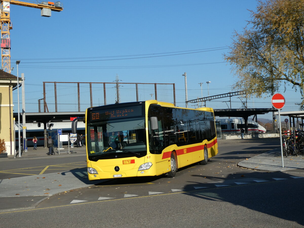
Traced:
[[1, 224], [303, 227], [302, 170], [283, 173], [237, 167], [239, 161], [278, 146], [278, 139], [219, 140], [219, 154], [207, 165], [185, 167], [175, 178], [113, 179], [74, 189], [44, 200], [36, 209], [0, 213]]

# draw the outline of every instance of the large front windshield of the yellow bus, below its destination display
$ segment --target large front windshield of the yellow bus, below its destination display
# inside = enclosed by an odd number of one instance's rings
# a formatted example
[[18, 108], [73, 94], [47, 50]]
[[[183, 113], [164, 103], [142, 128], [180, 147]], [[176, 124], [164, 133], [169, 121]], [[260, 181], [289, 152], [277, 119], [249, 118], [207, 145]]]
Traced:
[[88, 123], [87, 131], [89, 159], [119, 153], [129, 157], [147, 154], [143, 117]]

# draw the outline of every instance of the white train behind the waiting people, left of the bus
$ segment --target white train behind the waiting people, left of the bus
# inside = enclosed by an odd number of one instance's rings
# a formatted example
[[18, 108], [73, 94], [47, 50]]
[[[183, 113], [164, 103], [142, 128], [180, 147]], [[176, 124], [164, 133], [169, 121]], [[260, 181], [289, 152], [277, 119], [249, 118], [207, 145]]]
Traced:
[[[72, 121], [60, 121], [60, 122], [50, 122], [53, 123], [53, 129], [47, 130], [47, 134], [50, 134], [52, 138], [54, 137], [54, 132], [57, 129], [61, 129], [62, 133], [72, 133], [71, 126]], [[85, 135], [85, 124], [83, 122], [78, 122], [78, 133]], [[20, 135], [22, 136], [22, 125], [20, 126]], [[15, 123], [15, 136], [16, 136], [16, 147], [18, 147], [18, 125]], [[26, 140], [27, 147], [33, 147], [33, 138], [36, 136], [38, 142], [37, 146], [44, 145], [44, 128], [43, 124], [40, 127], [37, 126], [37, 123], [26, 123]], [[56, 136], [55, 136], [56, 137]], [[55, 139], [55, 138], [54, 138]]]

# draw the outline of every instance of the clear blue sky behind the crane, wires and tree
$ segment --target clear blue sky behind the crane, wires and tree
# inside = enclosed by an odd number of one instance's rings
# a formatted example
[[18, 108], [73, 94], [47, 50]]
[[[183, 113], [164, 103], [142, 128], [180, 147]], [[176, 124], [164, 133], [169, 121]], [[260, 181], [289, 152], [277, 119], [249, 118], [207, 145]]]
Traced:
[[[64, 10], [41, 17], [40, 9], [11, 5], [11, 73], [25, 74], [26, 112], [38, 111], [43, 81], [175, 83], [176, 105], [188, 100], [233, 92], [235, 78], [224, 63], [233, 31], [241, 32], [255, 10], [254, 0], [203, 1], [62, 1]], [[107, 104], [115, 102], [114, 84], [107, 85]], [[54, 111], [54, 88], [47, 84], [49, 111]], [[21, 91], [21, 90], [20, 90]], [[81, 84], [81, 111], [90, 106], [88, 85]], [[119, 87], [121, 102], [135, 101], [133, 85]], [[300, 95], [291, 85], [280, 91], [282, 111], [298, 110]], [[141, 85], [140, 100], [154, 98], [154, 85]], [[77, 111], [77, 87], [57, 84], [58, 111]], [[158, 100], [173, 102], [172, 86], [157, 87]], [[101, 85], [93, 86], [94, 105], [103, 104]], [[207, 102], [214, 109], [228, 108], [222, 98]], [[242, 98], [244, 100], [244, 98]], [[249, 108], [271, 108], [270, 97], [247, 100]], [[16, 91], [14, 104], [17, 105]], [[227, 102], [229, 105], [229, 102]], [[191, 104], [190, 104], [191, 105]], [[232, 98], [232, 108], [240, 108]], [[16, 107], [16, 106], [15, 106]], [[193, 106], [194, 107], [194, 106]], [[14, 109], [16, 111], [16, 108]], [[270, 118], [270, 115], [261, 115]]]

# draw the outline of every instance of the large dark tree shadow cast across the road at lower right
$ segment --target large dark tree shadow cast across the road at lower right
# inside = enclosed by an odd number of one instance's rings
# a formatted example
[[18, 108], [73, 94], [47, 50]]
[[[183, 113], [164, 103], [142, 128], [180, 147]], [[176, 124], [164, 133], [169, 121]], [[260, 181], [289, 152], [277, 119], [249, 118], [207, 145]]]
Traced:
[[[279, 178], [275, 179], [275, 177]], [[206, 178], [212, 181], [204, 183], [202, 179], [201, 183], [189, 183], [185, 186], [185, 190], [189, 192], [184, 194], [210, 201], [229, 202], [304, 225], [304, 198], [299, 194], [304, 189], [304, 181], [301, 177], [279, 172], [271, 174], [254, 172], [244, 175], [230, 174], [225, 178]], [[215, 183], [225, 187], [215, 188]], [[198, 186], [202, 185], [203, 190], [192, 191], [194, 187], [199, 188]], [[246, 216], [249, 215], [244, 215], [244, 219]], [[257, 221], [256, 227], [260, 227], [261, 223]]]

